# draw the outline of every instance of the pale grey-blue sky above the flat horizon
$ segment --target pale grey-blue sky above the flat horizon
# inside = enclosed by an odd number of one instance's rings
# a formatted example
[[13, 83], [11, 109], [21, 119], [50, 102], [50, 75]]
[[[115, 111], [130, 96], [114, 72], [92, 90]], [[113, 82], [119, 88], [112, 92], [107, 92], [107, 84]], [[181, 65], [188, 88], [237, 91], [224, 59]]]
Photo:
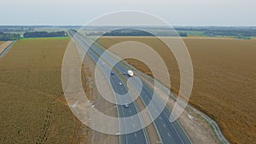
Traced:
[[120, 10], [155, 14], [172, 26], [256, 26], [255, 0], [2, 0], [0, 25], [84, 26]]

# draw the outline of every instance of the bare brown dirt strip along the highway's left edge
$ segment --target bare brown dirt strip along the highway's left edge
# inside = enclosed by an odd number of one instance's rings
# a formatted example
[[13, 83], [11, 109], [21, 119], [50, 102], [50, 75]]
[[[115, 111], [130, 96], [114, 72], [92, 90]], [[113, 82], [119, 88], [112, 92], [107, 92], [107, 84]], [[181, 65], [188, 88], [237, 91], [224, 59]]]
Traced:
[[[85, 91], [85, 94], [90, 101], [91, 105], [94, 105], [95, 108], [110, 116], [117, 117], [116, 106], [106, 101], [102, 95], [98, 92], [95, 82], [95, 68], [96, 64], [90, 59], [88, 55], [84, 57], [84, 63], [82, 68], [82, 84]], [[110, 87], [109, 87], [110, 89]], [[104, 124], [104, 123], [103, 123]], [[102, 124], [102, 125], [103, 125]], [[114, 128], [113, 128], [114, 129]], [[84, 132], [86, 130], [86, 132]], [[119, 144], [119, 135], [108, 135], [98, 132], [96, 130], [91, 130], [89, 127], [84, 124], [79, 125], [79, 131], [77, 133], [81, 137], [80, 143], [85, 144]]]

